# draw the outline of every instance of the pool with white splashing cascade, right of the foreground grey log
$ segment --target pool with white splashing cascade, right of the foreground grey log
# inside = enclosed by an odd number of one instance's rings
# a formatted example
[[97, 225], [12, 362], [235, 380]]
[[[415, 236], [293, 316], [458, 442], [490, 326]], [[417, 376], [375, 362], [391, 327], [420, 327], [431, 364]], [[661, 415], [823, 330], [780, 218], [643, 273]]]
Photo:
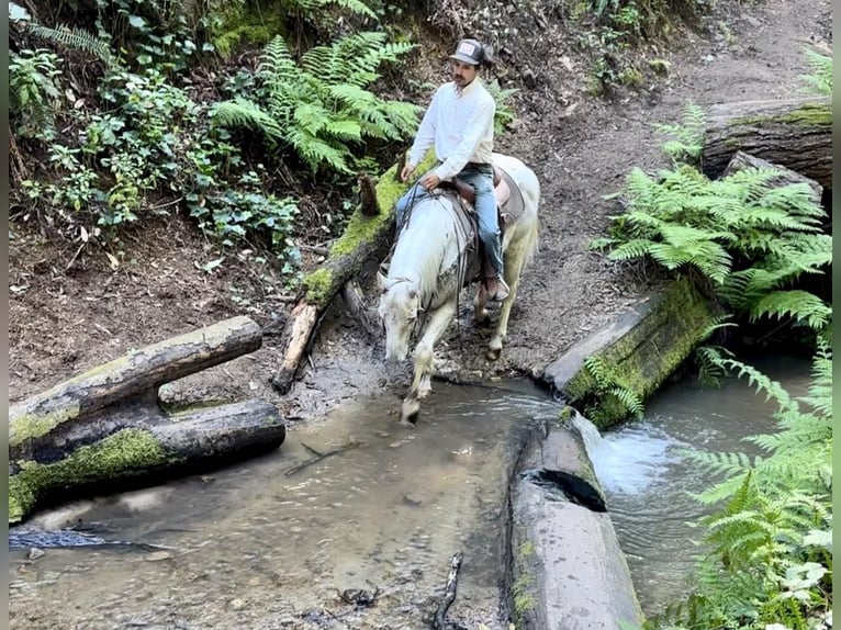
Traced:
[[[807, 393], [809, 361], [777, 357], [751, 364], [793, 396]], [[716, 390], [687, 380], [664, 387], [639, 423], [602, 437], [582, 428], [646, 615], [661, 612], [687, 592], [703, 551], [697, 544], [703, 531], [689, 524], [711, 511], [691, 493], [720, 481], [688, 462], [684, 449], [758, 454], [742, 438], [772, 432], [774, 410], [747, 381], [729, 380]]]

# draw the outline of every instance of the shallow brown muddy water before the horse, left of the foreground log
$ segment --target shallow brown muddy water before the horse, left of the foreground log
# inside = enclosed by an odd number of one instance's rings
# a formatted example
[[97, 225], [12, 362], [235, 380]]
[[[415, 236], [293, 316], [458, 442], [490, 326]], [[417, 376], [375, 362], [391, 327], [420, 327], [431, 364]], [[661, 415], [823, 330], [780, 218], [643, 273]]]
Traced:
[[559, 406], [528, 386], [439, 384], [413, 430], [399, 402], [360, 398], [270, 455], [85, 504], [98, 536], [161, 548], [13, 550], [11, 628], [423, 628], [456, 551], [448, 619], [501, 628], [508, 475], [529, 419]]

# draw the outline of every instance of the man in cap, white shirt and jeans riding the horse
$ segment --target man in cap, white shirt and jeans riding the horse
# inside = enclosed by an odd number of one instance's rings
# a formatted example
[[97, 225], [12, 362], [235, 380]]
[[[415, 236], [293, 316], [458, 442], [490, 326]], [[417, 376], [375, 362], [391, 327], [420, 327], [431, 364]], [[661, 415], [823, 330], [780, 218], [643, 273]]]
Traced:
[[501, 302], [508, 296], [509, 289], [503, 278], [491, 162], [496, 103], [479, 78], [480, 68], [491, 63], [490, 53], [476, 40], [462, 40], [450, 59], [452, 81], [435, 92], [400, 177], [403, 181], [408, 180], [431, 146], [440, 164], [425, 173], [397, 201], [397, 230], [410, 209], [419, 199], [428, 196], [441, 181], [458, 178], [470, 184], [475, 191], [473, 207], [479, 224], [479, 238], [493, 269], [493, 274], [485, 274], [485, 289], [490, 300]]

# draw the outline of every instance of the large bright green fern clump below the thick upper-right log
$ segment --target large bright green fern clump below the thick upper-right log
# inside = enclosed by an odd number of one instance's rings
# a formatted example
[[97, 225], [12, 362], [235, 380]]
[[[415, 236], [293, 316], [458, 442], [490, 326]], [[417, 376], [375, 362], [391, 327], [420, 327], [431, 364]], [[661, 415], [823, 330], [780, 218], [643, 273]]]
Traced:
[[825, 211], [808, 185], [778, 187], [775, 177], [750, 168], [709, 181], [681, 166], [653, 179], [633, 169], [624, 193], [628, 211], [592, 247], [609, 249], [612, 260], [693, 271], [738, 315], [788, 317], [826, 336], [830, 307], [790, 289], [803, 274], [831, 265], [831, 237], [817, 234]]

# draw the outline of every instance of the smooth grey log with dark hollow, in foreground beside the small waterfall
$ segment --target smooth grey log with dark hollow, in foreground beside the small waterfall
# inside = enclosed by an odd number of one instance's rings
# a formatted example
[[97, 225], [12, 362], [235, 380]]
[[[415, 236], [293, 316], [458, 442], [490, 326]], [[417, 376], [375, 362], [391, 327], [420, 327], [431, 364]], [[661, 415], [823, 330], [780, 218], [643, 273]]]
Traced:
[[[538, 473], [538, 474], [536, 474]], [[519, 630], [638, 628], [642, 622], [610, 515], [552, 483], [563, 473], [602, 494], [581, 434], [535, 427], [512, 476], [506, 604]]]

